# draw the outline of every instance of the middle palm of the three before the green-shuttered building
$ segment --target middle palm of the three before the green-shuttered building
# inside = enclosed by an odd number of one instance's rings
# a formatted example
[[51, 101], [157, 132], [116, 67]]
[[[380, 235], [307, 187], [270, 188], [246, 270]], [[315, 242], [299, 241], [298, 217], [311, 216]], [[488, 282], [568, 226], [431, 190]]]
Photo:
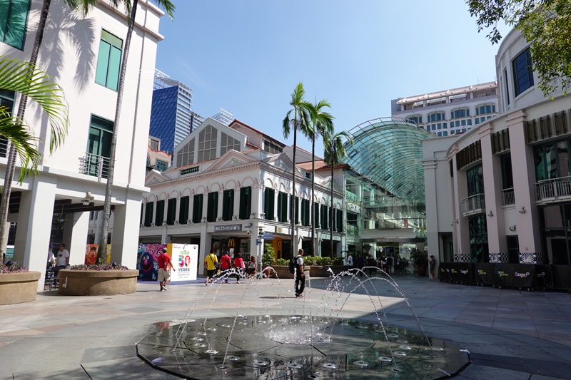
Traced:
[[325, 111], [323, 108], [330, 108], [331, 105], [325, 99], [313, 104], [310, 107], [309, 115], [311, 118], [311, 247], [313, 255], [317, 253], [315, 249], [315, 207], [313, 207], [313, 200], [315, 198], [315, 138], [319, 135], [333, 134], [333, 119], [334, 117]]

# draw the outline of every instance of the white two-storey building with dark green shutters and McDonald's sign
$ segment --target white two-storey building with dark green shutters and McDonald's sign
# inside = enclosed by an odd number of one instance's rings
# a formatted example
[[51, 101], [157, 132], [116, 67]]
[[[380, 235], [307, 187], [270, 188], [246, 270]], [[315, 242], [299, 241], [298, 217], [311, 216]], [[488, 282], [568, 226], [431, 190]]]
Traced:
[[[148, 173], [146, 185], [151, 192], [143, 198], [141, 242], [198, 244], [201, 263], [211, 248], [257, 255], [260, 247], [256, 239], [262, 230], [274, 236], [271, 242], [278, 257], [290, 257], [290, 151], [275, 138], [238, 120], [226, 126], [206, 119], [175, 148], [173, 168]], [[298, 149], [300, 162], [310, 157]], [[345, 197], [336, 183], [334, 190], [333, 240], [335, 255], [339, 255], [345, 247]], [[312, 202], [310, 171], [298, 167], [295, 201], [295, 252], [298, 247], [313, 251], [310, 215], [316, 210], [316, 240], [321, 243], [316, 255], [322, 251], [328, 254], [330, 177], [315, 175]]]

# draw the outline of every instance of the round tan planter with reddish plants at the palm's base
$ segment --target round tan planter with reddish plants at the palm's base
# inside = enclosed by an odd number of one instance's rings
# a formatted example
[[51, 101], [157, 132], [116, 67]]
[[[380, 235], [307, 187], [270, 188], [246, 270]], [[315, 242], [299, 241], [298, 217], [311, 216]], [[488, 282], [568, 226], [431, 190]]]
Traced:
[[64, 296], [112, 296], [137, 290], [138, 269], [59, 271], [58, 294]]

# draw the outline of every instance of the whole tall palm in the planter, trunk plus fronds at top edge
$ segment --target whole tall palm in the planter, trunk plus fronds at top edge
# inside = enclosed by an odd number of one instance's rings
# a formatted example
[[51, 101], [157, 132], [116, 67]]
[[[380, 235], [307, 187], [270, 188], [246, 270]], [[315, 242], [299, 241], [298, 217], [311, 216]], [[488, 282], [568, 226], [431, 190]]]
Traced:
[[[117, 86], [117, 103], [115, 107], [115, 119], [113, 121], [113, 136], [111, 138], [111, 152], [109, 153], [109, 169], [107, 175], [107, 185], [105, 188], [105, 202], [103, 203], [103, 225], [101, 227], [101, 237], [99, 239], [99, 255], [103, 262], [107, 262], [107, 235], [109, 231], [109, 218], [111, 217], [111, 192], [113, 189], [113, 173], [115, 172], [115, 152], [117, 147], [117, 130], [121, 118], [121, 105], [123, 104], [123, 93], [125, 87], [125, 75], [127, 72], [127, 60], [129, 48], [131, 47], [131, 36], [135, 28], [135, 16], [137, 12], [138, 0], [111, 0], [113, 6], [118, 8], [119, 4], [124, 4], [128, 14], [128, 29], [123, 46], [123, 56], [121, 57], [121, 68], [119, 70]], [[173, 19], [174, 5], [170, 0], [155, 0], [158, 6], [166, 11], [168, 17]]]

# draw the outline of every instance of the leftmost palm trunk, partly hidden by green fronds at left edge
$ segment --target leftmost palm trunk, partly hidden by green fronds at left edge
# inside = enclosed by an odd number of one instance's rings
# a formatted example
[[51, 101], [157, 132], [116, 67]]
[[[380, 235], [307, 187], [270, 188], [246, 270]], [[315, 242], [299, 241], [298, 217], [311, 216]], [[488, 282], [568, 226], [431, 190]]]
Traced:
[[[41, 41], [44, 39], [44, 31], [46, 29], [46, 21], [48, 19], [49, 7], [51, 0], [44, 0], [41, 6], [40, 20], [38, 23], [38, 31], [34, 40], [34, 47], [31, 50], [29, 76], [34, 73], [34, 67], [38, 63]], [[28, 96], [21, 95], [18, 105], [18, 118], [24, 119], [26, 113], [26, 105], [28, 104]], [[8, 207], [10, 204], [10, 194], [12, 192], [12, 181], [14, 180], [14, 172], [16, 171], [16, 149], [14, 145], [10, 145], [8, 153], [8, 162], [6, 163], [6, 174], [4, 175], [4, 190], [2, 190], [2, 199], [0, 201], [0, 251], [6, 252], [6, 225], [8, 225]]]

